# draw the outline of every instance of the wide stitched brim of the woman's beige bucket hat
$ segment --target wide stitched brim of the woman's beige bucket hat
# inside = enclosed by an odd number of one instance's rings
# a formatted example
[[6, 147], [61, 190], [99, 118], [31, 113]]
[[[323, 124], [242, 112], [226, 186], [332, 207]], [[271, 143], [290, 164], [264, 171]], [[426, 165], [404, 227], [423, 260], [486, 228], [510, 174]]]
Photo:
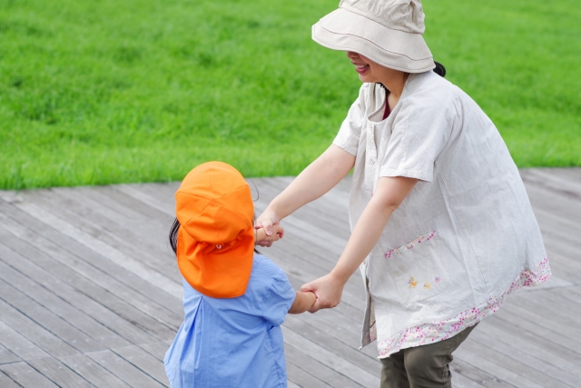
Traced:
[[407, 73], [436, 67], [422, 35], [389, 28], [342, 8], [312, 26], [312, 39], [332, 50], [353, 51]]

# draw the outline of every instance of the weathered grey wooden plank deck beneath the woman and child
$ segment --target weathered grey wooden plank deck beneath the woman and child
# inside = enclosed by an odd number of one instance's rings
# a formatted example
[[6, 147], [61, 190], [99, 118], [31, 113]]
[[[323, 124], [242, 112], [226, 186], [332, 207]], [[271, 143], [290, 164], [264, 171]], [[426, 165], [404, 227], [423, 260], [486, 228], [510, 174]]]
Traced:
[[[519, 291], [470, 335], [455, 387], [581, 387], [581, 169], [522, 171], [553, 278]], [[291, 178], [253, 179], [257, 214]], [[262, 249], [295, 287], [326, 274], [350, 235], [350, 180], [283, 222]], [[161, 387], [182, 323], [180, 274], [166, 241], [178, 184], [0, 192], [0, 387]], [[253, 189], [256, 195], [256, 190]], [[291, 387], [379, 387], [359, 347], [359, 274], [340, 306], [289, 315]]]

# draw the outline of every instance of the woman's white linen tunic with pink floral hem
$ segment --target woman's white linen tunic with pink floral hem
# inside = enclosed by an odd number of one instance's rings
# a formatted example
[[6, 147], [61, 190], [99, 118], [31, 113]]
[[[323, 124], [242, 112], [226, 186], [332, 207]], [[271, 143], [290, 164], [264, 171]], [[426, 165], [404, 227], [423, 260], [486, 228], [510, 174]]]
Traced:
[[362, 85], [333, 142], [356, 156], [351, 230], [379, 177], [419, 179], [360, 267], [362, 346], [377, 337], [380, 358], [445, 340], [550, 276], [517, 166], [478, 104], [431, 71], [409, 75], [381, 120], [385, 103]]

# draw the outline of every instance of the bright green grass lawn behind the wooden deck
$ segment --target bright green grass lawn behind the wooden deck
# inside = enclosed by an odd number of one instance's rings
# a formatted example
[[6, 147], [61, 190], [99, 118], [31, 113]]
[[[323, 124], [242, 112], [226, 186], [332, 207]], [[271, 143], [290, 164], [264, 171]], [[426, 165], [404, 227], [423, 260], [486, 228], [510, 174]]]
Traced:
[[[310, 40], [338, 1], [0, 0], [0, 188], [298, 174], [359, 79]], [[576, 0], [425, 0], [447, 78], [517, 164], [581, 165]]]

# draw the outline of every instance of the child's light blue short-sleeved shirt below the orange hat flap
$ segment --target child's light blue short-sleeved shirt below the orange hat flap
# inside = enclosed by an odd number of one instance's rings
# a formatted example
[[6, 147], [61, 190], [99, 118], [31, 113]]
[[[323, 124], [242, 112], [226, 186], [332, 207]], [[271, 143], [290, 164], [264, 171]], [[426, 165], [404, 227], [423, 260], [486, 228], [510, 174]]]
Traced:
[[261, 254], [237, 298], [205, 296], [184, 280], [184, 322], [164, 359], [171, 387], [286, 387], [281, 324], [295, 295], [286, 274]]

